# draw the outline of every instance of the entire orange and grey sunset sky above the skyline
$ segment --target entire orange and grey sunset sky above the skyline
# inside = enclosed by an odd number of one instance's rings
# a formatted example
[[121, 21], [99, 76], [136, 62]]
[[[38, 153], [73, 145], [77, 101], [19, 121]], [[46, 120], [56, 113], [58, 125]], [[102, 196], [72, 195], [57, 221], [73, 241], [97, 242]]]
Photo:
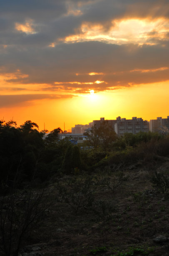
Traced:
[[0, 2], [0, 120], [169, 115], [168, 0]]

